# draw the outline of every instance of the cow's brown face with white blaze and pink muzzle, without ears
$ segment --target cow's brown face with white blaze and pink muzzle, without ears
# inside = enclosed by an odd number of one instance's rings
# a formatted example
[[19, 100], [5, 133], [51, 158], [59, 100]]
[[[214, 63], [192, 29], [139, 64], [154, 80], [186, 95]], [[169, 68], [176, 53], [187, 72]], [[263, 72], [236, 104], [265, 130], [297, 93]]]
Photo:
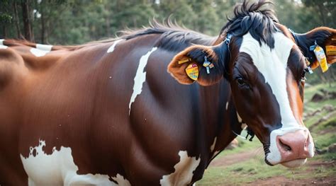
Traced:
[[314, 155], [302, 118], [306, 61], [289, 37], [273, 37], [274, 47], [259, 45], [250, 33], [237, 38], [229, 79], [237, 111], [262, 141], [265, 161], [296, 167]]

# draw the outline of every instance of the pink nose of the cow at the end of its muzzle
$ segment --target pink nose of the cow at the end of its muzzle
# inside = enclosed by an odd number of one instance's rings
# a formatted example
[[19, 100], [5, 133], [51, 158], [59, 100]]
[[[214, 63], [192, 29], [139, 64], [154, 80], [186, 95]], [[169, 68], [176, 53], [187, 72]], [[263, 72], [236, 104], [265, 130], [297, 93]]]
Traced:
[[297, 130], [277, 137], [277, 146], [281, 154], [281, 161], [293, 161], [309, 158], [309, 135], [306, 130]]

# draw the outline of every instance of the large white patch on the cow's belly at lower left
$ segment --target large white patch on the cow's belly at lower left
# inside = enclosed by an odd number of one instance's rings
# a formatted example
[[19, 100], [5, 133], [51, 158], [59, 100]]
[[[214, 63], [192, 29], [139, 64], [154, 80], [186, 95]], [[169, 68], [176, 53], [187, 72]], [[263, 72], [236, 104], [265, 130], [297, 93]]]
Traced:
[[[74, 164], [71, 148], [61, 146], [60, 151], [57, 151], [54, 147], [48, 155], [43, 151], [43, 146], [45, 141], [40, 140], [38, 146], [30, 147], [28, 158], [20, 155], [28, 175], [28, 185], [116, 185], [108, 180], [108, 175], [77, 175], [78, 167]], [[112, 179], [119, 185], [130, 185], [119, 174]]]

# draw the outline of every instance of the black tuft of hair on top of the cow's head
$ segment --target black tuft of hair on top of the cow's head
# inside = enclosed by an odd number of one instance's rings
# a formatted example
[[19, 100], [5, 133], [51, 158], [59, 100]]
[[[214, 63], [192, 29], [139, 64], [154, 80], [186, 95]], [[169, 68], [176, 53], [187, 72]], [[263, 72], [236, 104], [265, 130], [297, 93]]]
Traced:
[[234, 36], [242, 36], [249, 32], [260, 45], [265, 42], [274, 48], [272, 33], [279, 31], [276, 28], [279, 21], [270, 5], [273, 3], [267, 0], [254, 3], [244, 0], [242, 4], [235, 6], [235, 16], [228, 18], [228, 23], [220, 30], [220, 35], [232, 33]]

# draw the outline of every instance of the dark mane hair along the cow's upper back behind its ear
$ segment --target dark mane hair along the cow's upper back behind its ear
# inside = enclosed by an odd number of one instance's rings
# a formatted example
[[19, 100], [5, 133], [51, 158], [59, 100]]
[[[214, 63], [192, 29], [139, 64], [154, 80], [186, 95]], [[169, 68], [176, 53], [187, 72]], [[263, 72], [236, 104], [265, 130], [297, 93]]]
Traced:
[[212, 45], [215, 37], [203, 35], [193, 30], [182, 28], [177, 23], [172, 23], [168, 18], [166, 23], [160, 24], [153, 20], [150, 22], [150, 27], [141, 30], [124, 30], [121, 31], [121, 38], [130, 40], [141, 35], [159, 34], [156, 47], [161, 47], [165, 50], [179, 51], [190, 45]]

